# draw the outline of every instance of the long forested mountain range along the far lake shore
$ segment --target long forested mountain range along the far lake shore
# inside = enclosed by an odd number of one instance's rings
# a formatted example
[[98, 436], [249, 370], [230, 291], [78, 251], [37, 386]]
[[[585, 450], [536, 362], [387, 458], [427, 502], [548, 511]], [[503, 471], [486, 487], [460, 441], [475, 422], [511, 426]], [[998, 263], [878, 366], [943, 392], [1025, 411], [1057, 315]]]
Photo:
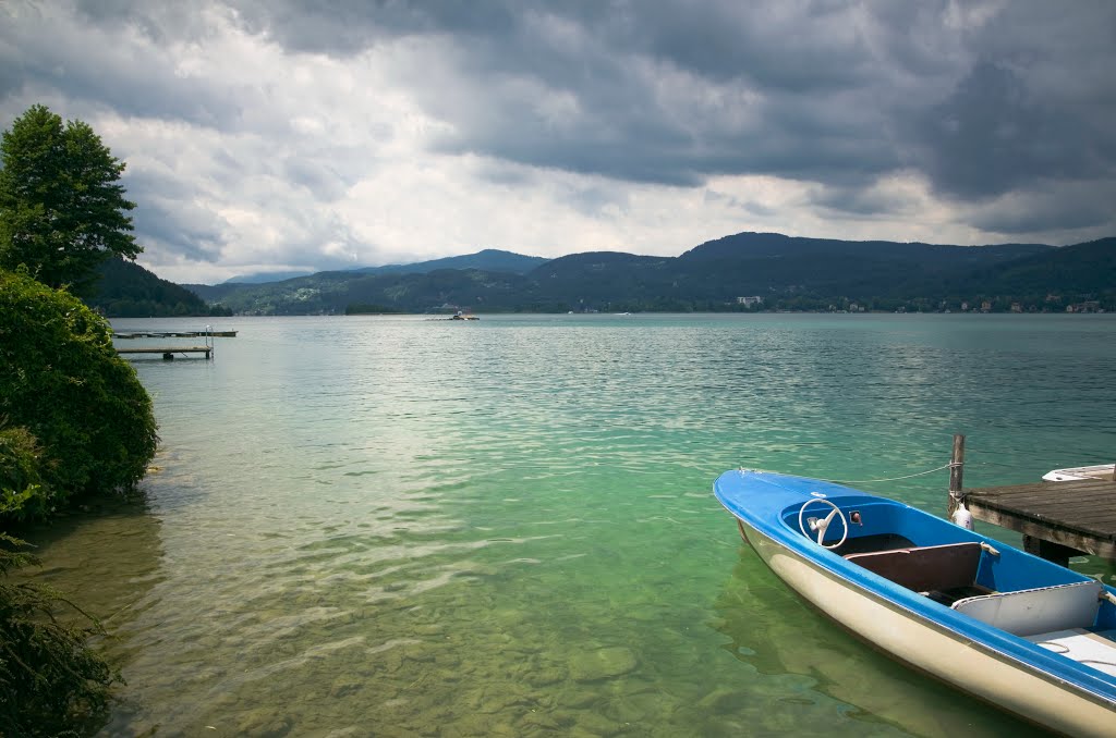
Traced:
[[[477, 266], [483, 260], [490, 265]], [[1060, 247], [950, 246], [740, 233], [679, 256], [590, 252], [546, 261], [485, 251], [267, 284], [187, 287], [238, 314], [956, 311], [985, 302], [998, 311], [1060, 312], [1083, 303], [1116, 310], [1116, 239]]]

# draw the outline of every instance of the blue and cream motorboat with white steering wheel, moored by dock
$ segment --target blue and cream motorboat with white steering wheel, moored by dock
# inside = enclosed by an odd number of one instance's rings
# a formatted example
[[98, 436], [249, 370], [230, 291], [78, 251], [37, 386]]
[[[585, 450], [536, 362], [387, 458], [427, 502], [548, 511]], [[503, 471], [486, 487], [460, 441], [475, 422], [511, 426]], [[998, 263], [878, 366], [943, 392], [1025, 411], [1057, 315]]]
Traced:
[[882, 651], [1047, 728], [1112, 735], [1112, 588], [827, 482], [735, 470], [714, 494], [780, 579]]

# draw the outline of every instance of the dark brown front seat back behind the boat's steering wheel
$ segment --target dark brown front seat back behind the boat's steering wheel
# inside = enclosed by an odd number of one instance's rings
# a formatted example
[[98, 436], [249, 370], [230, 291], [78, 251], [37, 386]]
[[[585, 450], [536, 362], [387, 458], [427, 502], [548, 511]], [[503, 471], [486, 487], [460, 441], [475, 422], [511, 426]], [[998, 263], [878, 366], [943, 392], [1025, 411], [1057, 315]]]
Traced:
[[980, 556], [980, 543], [965, 542], [856, 553], [845, 559], [908, 590], [935, 592], [972, 586]]

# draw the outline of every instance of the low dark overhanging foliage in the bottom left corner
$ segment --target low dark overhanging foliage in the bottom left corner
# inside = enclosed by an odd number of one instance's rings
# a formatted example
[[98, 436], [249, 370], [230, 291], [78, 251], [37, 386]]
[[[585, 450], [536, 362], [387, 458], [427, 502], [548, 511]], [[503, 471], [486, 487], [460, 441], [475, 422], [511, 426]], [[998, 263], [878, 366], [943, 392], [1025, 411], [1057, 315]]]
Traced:
[[[0, 503], [0, 514], [10, 513]], [[49, 588], [12, 583], [38, 564], [26, 544], [0, 533], [0, 726], [4, 736], [92, 732], [109, 689], [122, 681], [86, 642], [104, 634], [96, 619]], [[83, 627], [70, 623], [78, 619]]]

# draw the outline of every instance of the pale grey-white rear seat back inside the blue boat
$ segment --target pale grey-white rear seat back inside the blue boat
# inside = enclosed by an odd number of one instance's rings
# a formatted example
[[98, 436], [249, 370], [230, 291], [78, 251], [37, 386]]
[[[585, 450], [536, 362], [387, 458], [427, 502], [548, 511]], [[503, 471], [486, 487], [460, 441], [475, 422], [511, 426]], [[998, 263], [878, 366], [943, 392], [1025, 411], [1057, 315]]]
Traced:
[[1013, 635], [1091, 628], [1100, 609], [1100, 582], [1088, 580], [1033, 590], [965, 598], [953, 609]]

